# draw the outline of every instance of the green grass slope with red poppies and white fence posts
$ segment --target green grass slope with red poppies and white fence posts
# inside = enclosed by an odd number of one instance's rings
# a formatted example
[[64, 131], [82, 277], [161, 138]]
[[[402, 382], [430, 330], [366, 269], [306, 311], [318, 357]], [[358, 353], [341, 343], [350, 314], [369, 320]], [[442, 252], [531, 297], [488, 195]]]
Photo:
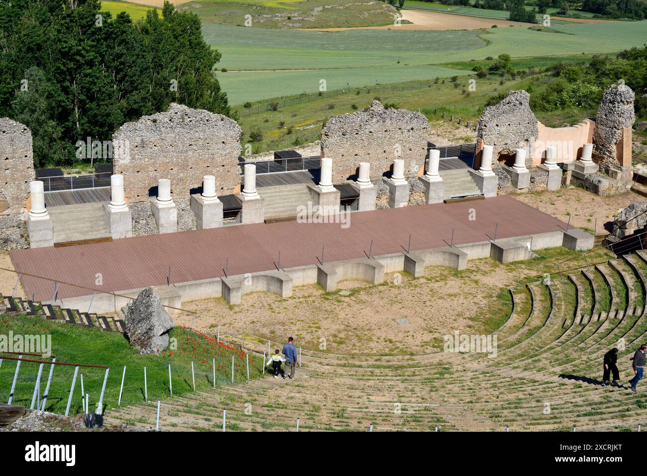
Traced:
[[[247, 379], [247, 363], [243, 352], [224, 344], [216, 345], [214, 341], [208, 340], [188, 329], [172, 329], [170, 338], [177, 339], [177, 350], [163, 352], [160, 356], [140, 355], [130, 347], [126, 338], [121, 334], [102, 332], [99, 329], [86, 329], [41, 318], [0, 315], [0, 335], [8, 335], [9, 331], [12, 331], [14, 335], [51, 334], [52, 354], [56, 355], [57, 362], [87, 363], [110, 367], [104, 396], [106, 413], [109, 413], [109, 409], [117, 406], [124, 365], [126, 365], [126, 379], [122, 395], [122, 406], [144, 402], [144, 366], [146, 366], [148, 380], [149, 402], [170, 397], [168, 387], [169, 364], [171, 364], [173, 378], [173, 396], [180, 396], [193, 391], [192, 360], [197, 391], [206, 391], [212, 388], [213, 370], [211, 363], [214, 356], [216, 358], [216, 367], [220, 367], [216, 369], [216, 385], [231, 381], [232, 355], [235, 356], [234, 380], [243, 382]], [[250, 378], [258, 378], [261, 374], [262, 360], [262, 358], [250, 354]], [[30, 406], [38, 367], [38, 363], [21, 363], [12, 404]], [[45, 365], [43, 368], [41, 393], [47, 384], [49, 367], [49, 365]], [[16, 362], [3, 360], [0, 367], [0, 402], [7, 402], [8, 400], [15, 370]], [[104, 369], [87, 367], [80, 367], [79, 369], [79, 374], [83, 374], [85, 393], [90, 394], [91, 410], [98, 403], [104, 373]], [[65, 412], [73, 374], [73, 366], [56, 365], [49, 398], [47, 399], [47, 411]], [[81, 413], [81, 411], [79, 377], [72, 396], [70, 413], [72, 415]]]

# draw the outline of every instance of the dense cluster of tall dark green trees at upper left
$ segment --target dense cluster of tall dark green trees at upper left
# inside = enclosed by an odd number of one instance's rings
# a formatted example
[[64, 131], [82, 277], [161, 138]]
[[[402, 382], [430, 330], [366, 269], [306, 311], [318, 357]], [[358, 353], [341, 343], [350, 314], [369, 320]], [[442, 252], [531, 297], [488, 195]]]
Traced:
[[221, 54], [168, 2], [133, 23], [97, 0], [12, 0], [0, 31], [0, 116], [30, 127], [39, 166], [71, 164], [78, 140], [111, 140], [171, 102], [231, 114], [212, 72]]

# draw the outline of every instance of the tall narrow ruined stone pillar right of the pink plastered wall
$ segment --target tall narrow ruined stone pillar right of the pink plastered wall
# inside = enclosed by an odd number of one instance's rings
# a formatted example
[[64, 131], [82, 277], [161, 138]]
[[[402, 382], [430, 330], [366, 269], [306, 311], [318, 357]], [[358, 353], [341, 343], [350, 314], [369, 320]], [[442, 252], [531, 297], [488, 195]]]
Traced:
[[[626, 85], [611, 85], [602, 96], [593, 131], [593, 160], [606, 172], [631, 165], [631, 125], [635, 95]], [[628, 150], [627, 150], [628, 149]], [[628, 157], [626, 157], [628, 155]]]

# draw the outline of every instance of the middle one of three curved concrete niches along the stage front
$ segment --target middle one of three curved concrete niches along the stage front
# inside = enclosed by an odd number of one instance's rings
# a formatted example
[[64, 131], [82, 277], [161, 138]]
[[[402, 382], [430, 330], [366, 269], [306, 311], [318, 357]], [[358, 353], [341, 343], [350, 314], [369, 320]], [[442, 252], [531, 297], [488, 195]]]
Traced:
[[344, 279], [361, 279], [373, 285], [384, 283], [385, 267], [377, 259], [360, 258], [317, 265], [317, 283], [326, 292], [336, 291]]

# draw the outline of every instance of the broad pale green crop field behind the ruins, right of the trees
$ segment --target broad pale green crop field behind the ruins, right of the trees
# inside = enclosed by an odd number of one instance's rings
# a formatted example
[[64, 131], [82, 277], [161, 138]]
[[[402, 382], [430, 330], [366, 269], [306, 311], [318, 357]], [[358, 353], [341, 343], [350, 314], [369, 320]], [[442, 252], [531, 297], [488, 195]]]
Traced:
[[[647, 21], [569, 23], [555, 32], [527, 27], [487, 30], [311, 32], [203, 25], [222, 54], [218, 78], [234, 105], [300, 92], [466, 74], [451, 63], [501, 53], [513, 58], [618, 52], [647, 38]], [[443, 69], [439, 69], [442, 65]], [[247, 72], [239, 72], [247, 70]]]

